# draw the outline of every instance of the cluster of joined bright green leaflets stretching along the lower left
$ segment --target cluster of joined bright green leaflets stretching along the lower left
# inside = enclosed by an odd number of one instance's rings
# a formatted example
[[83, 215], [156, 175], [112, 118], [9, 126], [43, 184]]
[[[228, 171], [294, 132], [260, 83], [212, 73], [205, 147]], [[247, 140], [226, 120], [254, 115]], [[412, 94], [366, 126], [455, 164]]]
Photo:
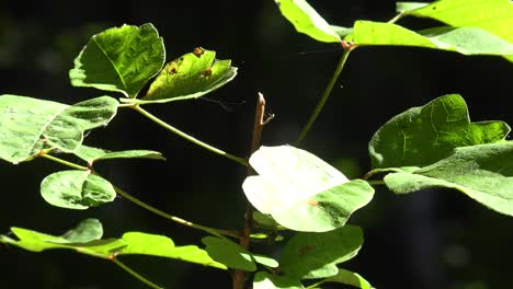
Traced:
[[68, 248], [100, 258], [113, 258], [122, 255], [149, 255], [226, 269], [225, 265], [212, 259], [204, 250], [193, 245], [175, 246], [171, 239], [163, 235], [127, 232], [121, 239], [101, 239], [103, 229], [100, 221], [95, 219], [87, 219], [79, 223], [77, 228], [60, 236], [23, 228], [11, 228], [11, 231], [19, 240], [0, 235], [0, 243], [12, 244], [34, 252]]

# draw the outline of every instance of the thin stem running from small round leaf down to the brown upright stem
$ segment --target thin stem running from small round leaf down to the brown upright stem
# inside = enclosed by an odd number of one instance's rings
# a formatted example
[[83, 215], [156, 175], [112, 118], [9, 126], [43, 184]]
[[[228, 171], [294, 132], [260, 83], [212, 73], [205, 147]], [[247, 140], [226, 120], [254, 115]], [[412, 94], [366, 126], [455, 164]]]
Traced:
[[172, 216], [172, 215], [169, 215], [164, 211], [161, 211], [146, 203], [144, 203], [142, 200], [132, 196], [130, 194], [126, 193], [125, 190], [121, 189], [119, 187], [113, 185], [114, 189], [116, 190], [117, 194], [119, 194], [121, 196], [123, 196], [124, 198], [128, 199], [129, 201], [162, 217], [162, 218], [166, 218], [168, 220], [171, 220], [173, 222], [178, 222], [180, 224], [183, 224], [183, 226], [186, 226], [186, 227], [191, 227], [191, 228], [194, 228], [194, 229], [197, 229], [197, 230], [202, 230], [202, 231], [205, 231], [207, 233], [210, 233], [213, 235], [217, 235], [217, 236], [220, 236], [220, 238], [224, 238], [223, 234], [225, 235], [229, 235], [229, 236], [233, 236], [233, 238], [240, 238], [240, 234], [237, 233], [237, 232], [233, 232], [233, 231], [228, 231], [228, 230], [221, 230], [221, 229], [215, 229], [215, 228], [209, 228], [209, 227], [205, 227], [205, 226], [201, 226], [201, 224], [197, 224], [197, 223], [193, 223], [193, 222], [190, 222], [190, 221], [186, 221], [182, 218], [179, 218], [179, 217], [175, 217], [175, 216]]

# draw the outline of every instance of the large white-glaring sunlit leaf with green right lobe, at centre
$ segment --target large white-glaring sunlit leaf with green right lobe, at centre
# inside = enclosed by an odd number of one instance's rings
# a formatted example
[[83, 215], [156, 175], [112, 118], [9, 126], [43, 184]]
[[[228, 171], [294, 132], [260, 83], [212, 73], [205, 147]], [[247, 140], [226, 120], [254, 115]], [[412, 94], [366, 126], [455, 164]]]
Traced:
[[246, 178], [246, 196], [259, 211], [288, 229], [340, 228], [374, 195], [365, 181], [350, 182], [321, 159], [290, 146], [261, 147], [249, 162], [259, 175]]

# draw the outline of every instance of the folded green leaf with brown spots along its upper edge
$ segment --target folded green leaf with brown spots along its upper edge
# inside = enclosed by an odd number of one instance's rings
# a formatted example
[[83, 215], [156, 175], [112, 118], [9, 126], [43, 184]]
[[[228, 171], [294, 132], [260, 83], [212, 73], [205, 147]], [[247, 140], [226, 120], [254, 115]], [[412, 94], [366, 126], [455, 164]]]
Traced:
[[194, 53], [169, 62], [151, 83], [142, 101], [137, 103], [166, 103], [197, 99], [229, 81], [237, 74], [230, 60], [216, 59], [216, 53], [201, 47]]

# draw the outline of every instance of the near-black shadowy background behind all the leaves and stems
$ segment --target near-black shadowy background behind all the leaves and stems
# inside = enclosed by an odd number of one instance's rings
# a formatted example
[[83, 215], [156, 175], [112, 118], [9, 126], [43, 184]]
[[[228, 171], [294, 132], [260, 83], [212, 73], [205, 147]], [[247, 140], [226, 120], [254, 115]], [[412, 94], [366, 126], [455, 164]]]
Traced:
[[[394, 1], [314, 1], [331, 23], [356, 19], [386, 21]], [[207, 95], [148, 109], [175, 127], [236, 155], [246, 157], [254, 100], [264, 93], [276, 118], [262, 143], [293, 142], [314, 109], [340, 57], [337, 45], [298, 34], [267, 1], [2, 1], [0, 3], [0, 93], [76, 103], [105, 93], [72, 88], [68, 70], [89, 37], [124, 23], [151, 22], [168, 60], [196, 46], [232, 59], [237, 78]], [[403, 20], [423, 27], [430, 21]], [[460, 93], [472, 120], [512, 124], [513, 66], [488, 56], [464, 57], [428, 49], [377, 47], [352, 53], [332, 95], [303, 144], [351, 177], [369, 170], [367, 143], [396, 114], [446, 94]], [[343, 88], [342, 88], [343, 85]], [[121, 96], [111, 94], [113, 96]], [[121, 109], [88, 144], [111, 150], [151, 149], [167, 162], [112, 161], [99, 171], [140, 199], [193, 222], [240, 229], [246, 170]], [[202, 232], [183, 228], [126, 199], [84, 211], [47, 205], [39, 182], [62, 170], [46, 160], [0, 163], [0, 233], [11, 226], [61, 234], [84, 218], [99, 218], [105, 236], [144, 231], [171, 236], [178, 245], [201, 244]], [[449, 190], [395, 196], [377, 189], [374, 200], [350, 223], [361, 226], [365, 243], [342, 266], [377, 288], [509, 288], [513, 282], [513, 219]], [[259, 247], [269, 252], [267, 247]], [[270, 252], [277, 254], [278, 252]], [[35, 254], [0, 245], [4, 288], [146, 288], [110, 262], [47, 251]], [[167, 288], [230, 288], [225, 271], [155, 257], [125, 263]], [[332, 288], [343, 288], [342, 286]]]

